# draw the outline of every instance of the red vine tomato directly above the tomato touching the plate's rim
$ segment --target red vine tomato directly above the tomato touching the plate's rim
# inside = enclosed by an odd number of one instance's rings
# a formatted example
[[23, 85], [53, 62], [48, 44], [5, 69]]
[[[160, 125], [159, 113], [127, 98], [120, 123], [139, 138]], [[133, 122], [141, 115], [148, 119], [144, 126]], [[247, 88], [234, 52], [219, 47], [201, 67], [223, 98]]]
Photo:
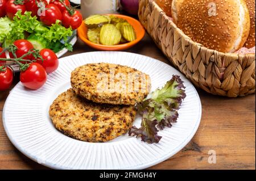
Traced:
[[43, 58], [43, 62], [40, 60], [38, 60], [36, 62], [41, 64], [44, 67], [44, 69], [46, 69], [47, 73], [52, 73], [53, 71], [55, 71], [58, 68], [59, 59], [52, 50], [47, 49], [47, 48], [42, 49], [42, 50], [40, 50], [40, 55]]

